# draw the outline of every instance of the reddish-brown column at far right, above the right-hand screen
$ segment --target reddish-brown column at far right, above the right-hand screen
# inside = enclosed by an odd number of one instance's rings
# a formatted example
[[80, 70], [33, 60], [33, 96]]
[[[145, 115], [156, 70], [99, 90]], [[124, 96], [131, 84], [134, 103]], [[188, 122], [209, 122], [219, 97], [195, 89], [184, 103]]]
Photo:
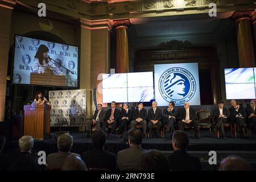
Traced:
[[[253, 11], [254, 12], [254, 11]], [[251, 11], [236, 12], [237, 44], [240, 67], [255, 67], [253, 38], [251, 36]]]

